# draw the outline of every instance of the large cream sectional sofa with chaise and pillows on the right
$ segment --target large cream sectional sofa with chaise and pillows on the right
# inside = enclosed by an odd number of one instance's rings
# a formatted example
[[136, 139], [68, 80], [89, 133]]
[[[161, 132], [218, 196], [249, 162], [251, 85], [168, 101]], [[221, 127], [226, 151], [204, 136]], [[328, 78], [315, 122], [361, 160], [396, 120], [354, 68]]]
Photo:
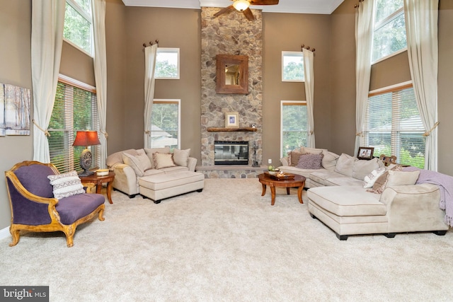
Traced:
[[[321, 158], [318, 167], [313, 158]], [[445, 211], [440, 209], [441, 188], [429, 183], [415, 185], [420, 171], [401, 171], [399, 165], [384, 167], [379, 158], [361, 161], [344, 153], [338, 156], [304, 147], [281, 161], [280, 170], [306, 177], [310, 215], [340, 240], [377, 233], [393, 238], [396, 233], [417, 231], [445, 235], [448, 230]]]

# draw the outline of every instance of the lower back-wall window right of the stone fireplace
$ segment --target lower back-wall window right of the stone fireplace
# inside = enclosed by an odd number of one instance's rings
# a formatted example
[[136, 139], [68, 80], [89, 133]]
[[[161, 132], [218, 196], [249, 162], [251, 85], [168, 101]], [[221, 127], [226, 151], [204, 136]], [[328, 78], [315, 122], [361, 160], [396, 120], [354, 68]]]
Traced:
[[280, 157], [283, 157], [299, 146], [309, 146], [309, 122], [305, 101], [282, 100], [280, 112]]

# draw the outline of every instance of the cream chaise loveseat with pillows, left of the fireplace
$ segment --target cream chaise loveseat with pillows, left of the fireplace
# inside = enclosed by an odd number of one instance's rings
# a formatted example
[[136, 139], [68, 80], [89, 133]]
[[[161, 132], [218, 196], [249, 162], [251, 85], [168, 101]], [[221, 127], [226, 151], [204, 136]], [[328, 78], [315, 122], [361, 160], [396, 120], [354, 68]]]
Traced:
[[115, 172], [113, 188], [130, 198], [142, 194], [159, 203], [204, 187], [204, 175], [195, 172], [197, 159], [190, 157], [190, 149], [128, 149], [111, 154], [106, 163]]

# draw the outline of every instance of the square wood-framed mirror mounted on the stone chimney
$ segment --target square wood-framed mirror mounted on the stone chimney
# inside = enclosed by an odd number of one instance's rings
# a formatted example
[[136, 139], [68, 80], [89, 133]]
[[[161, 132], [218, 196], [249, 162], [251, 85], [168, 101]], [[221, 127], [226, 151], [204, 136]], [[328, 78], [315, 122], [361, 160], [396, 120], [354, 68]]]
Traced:
[[248, 94], [248, 56], [217, 54], [216, 93]]

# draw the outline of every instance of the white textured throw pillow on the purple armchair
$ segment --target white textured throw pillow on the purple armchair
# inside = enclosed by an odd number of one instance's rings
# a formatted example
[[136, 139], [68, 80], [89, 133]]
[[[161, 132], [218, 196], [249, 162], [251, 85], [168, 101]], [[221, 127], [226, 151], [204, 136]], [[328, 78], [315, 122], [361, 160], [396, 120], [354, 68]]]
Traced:
[[62, 199], [76, 194], [85, 193], [84, 186], [76, 171], [69, 173], [49, 175], [50, 185], [54, 187], [54, 197]]

